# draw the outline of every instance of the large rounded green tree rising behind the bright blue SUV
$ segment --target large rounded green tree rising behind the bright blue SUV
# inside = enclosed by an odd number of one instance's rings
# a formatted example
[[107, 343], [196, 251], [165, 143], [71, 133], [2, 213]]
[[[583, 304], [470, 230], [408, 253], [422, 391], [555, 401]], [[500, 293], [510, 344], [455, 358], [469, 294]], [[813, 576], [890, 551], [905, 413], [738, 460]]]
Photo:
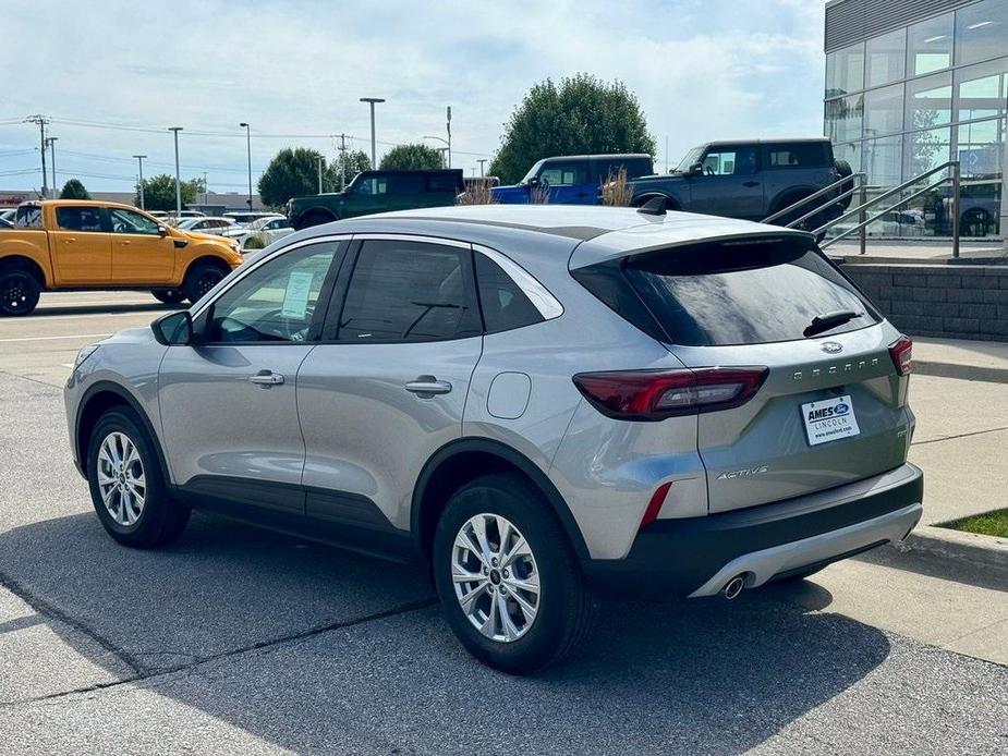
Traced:
[[655, 154], [655, 139], [636, 96], [622, 82], [590, 74], [536, 84], [505, 124], [490, 174], [519, 181], [536, 160], [554, 155]]

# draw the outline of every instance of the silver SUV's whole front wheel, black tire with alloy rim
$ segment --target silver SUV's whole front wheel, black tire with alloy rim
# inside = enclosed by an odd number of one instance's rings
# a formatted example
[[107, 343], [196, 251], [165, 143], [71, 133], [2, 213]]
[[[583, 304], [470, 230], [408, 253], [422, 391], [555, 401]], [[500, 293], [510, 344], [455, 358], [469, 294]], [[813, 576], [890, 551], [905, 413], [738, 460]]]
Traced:
[[[121, 471], [117, 452], [129, 463]], [[154, 442], [129, 410], [110, 410], [95, 425], [87, 444], [87, 484], [101, 525], [123, 546], [165, 546], [189, 523], [191, 510], [169, 496]]]

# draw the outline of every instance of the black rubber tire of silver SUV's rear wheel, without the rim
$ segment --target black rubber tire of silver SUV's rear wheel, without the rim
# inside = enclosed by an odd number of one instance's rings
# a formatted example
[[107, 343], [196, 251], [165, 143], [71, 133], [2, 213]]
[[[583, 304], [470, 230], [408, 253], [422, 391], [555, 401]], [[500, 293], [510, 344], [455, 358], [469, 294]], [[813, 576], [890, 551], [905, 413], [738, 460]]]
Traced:
[[[448, 502], [435, 533], [433, 573], [442, 609], [456, 636], [477, 659], [505, 672], [535, 671], [567, 645], [572, 614], [584, 587], [573, 550], [549, 504], [535, 491], [515, 487], [508, 476], [488, 476], [457, 491]], [[531, 488], [531, 487], [530, 487]], [[465, 617], [454, 594], [451, 558], [456, 535], [479, 513], [508, 519], [524, 536], [539, 573], [539, 610], [532, 627], [518, 641], [501, 643], [483, 636]]]

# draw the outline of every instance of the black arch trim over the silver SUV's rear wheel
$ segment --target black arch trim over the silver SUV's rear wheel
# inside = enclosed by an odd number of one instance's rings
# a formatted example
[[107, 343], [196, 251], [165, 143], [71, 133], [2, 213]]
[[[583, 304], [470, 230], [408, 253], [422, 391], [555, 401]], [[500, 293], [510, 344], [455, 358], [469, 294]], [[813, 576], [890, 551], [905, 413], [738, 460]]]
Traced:
[[470, 452], [481, 452], [497, 456], [501, 461], [518, 468], [532, 480], [533, 485], [539, 489], [559, 519], [560, 525], [563, 527], [568, 538], [570, 538], [571, 545], [574, 547], [574, 552], [579, 561], [584, 563], [591, 559], [587, 545], [584, 542], [584, 536], [581, 534], [581, 528], [578, 527], [578, 523], [574, 521], [574, 515], [571, 513], [570, 507], [568, 507], [560, 491], [557, 490], [557, 487], [549, 479], [549, 476], [527, 456], [502, 441], [478, 437], [460, 438], [448, 442], [427, 460], [420, 476], [416, 478], [416, 485], [413, 487], [412, 507], [410, 508], [410, 531], [413, 534], [414, 546], [422, 559], [426, 560], [427, 554], [423, 552], [421, 507], [430, 479], [442, 464], [459, 454]]

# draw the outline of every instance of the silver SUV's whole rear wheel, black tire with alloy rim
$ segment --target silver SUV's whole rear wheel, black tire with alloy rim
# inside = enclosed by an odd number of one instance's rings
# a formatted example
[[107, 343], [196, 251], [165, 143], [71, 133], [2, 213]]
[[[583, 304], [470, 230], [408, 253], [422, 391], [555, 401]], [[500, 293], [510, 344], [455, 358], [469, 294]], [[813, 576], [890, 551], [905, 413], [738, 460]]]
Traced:
[[[460, 538], [478, 542], [472, 539], [478, 523], [488, 558], [476, 548], [456, 546]], [[520, 539], [527, 553], [515, 547]], [[518, 553], [506, 562], [508, 548]], [[452, 495], [435, 532], [433, 570], [448, 624], [470, 654], [494, 669], [510, 674], [539, 670], [571, 653], [591, 630], [595, 601], [574, 550], [549, 503], [520, 475], [488, 475]], [[453, 573], [474, 580], [456, 581]], [[522, 587], [536, 583], [538, 593]], [[505, 615], [495, 611], [502, 596], [508, 596]], [[469, 611], [462, 607], [466, 597]]]

